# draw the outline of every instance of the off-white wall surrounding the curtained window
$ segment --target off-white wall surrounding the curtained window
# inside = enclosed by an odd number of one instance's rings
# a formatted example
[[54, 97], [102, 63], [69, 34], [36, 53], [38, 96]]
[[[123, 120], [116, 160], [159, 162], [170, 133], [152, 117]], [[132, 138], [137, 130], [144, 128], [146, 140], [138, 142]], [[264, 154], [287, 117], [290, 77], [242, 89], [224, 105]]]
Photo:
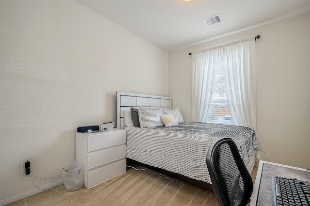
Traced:
[[[210, 27], [211, 29], [211, 27]], [[310, 13], [222, 37], [169, 54], [169, 96], [192, 119], [191, 56], [236, 40], [257, 40], [257, 136], [261, 159], [310, 167]], [[189, 109], [188, 109], [189, 108]]]

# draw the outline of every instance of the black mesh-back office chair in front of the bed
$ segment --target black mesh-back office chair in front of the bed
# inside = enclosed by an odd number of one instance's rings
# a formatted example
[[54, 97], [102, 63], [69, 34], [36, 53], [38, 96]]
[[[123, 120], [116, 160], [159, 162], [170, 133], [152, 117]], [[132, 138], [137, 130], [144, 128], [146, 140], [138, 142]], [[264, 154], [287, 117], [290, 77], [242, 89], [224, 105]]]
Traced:
[[253, 182], [233, 140], [217, 139], [210, 146], [206, 161], [218, 204], [247, 206]]

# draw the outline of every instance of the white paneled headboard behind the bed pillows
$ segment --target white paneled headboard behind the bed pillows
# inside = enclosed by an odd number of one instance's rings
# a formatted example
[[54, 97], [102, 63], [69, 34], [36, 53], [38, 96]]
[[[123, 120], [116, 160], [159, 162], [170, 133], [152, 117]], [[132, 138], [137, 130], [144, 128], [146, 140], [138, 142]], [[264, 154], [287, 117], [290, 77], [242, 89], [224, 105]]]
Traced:
[[171, 97], [116, 92], [116, 128], [124, 129], [124, 110], [139, 106], [152, 109], [171, 109]]

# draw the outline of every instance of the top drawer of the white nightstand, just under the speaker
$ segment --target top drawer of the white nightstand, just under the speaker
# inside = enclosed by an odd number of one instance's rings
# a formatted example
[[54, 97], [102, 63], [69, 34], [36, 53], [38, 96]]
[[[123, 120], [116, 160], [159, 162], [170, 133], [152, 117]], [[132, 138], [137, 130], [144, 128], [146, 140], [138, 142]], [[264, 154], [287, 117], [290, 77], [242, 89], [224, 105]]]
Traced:
[[126, 143], [126, 131], [111, 129], [107, 132], [92, 134], [87, 138], [87, 152]]

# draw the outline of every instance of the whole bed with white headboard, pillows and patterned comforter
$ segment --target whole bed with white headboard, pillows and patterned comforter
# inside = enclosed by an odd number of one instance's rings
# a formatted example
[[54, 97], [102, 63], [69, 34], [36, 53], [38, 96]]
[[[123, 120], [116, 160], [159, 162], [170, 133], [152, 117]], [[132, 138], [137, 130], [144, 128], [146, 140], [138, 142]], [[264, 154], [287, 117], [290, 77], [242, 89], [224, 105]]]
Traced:
[[[127, 161], [213, 190], [205, 161], [208, 148], [218, 138], [231, 137], [250, 173], [254, 167], [260, 144], [248, 127], [184, 122], [179, 109], [171, 108], [171, 97], [117, 92], [116, 102], [116, 126], [126, 130]], [[137, 121], [133, 111], [138, 109], [141, 125], [132, 127], [128, 119]]]

